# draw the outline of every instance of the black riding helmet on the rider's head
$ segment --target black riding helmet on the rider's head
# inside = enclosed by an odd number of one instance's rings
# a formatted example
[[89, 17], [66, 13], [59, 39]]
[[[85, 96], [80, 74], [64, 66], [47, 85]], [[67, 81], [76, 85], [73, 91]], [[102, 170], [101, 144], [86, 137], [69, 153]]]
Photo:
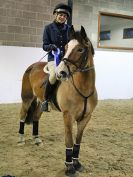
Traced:
[[68, 17], [70, 17], [70, 14], [72, 13], [72, 9], [70, 6], [60, 3], [55, 6], [53, 14], [55, 14], [56, 12], [57, 13], [61, 13], [61, 12], [65, 13], [65, 14], [67, 14]]

